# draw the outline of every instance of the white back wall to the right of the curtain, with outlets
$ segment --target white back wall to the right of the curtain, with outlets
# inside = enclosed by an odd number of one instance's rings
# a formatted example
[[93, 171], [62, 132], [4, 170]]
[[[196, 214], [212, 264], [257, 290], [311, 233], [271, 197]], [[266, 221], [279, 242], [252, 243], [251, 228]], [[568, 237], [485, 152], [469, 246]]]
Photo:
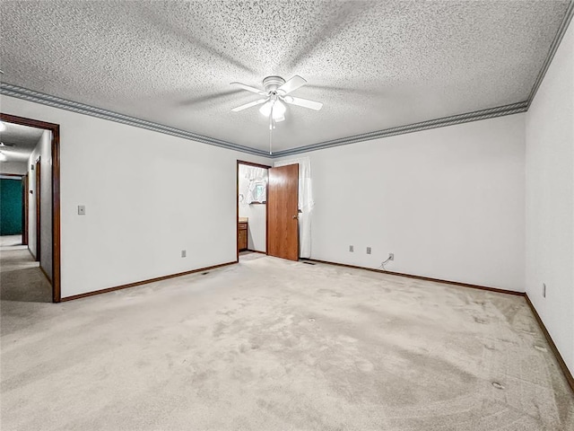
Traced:
[[393, 252], [391, 271], [524, 291], [524, 119], [306, 154], [311, 258], [378, 268]]

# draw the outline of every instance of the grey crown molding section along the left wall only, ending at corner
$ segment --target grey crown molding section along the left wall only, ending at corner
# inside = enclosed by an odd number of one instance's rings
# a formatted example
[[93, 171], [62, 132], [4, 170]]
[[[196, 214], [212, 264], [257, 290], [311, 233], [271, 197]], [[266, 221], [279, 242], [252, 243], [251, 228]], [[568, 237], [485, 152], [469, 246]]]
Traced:
[[68, 101], [66, 99], [62, 99], [61, 97], [52, 96], [43, 92], [36, 92], [34, 90], [23, 88], [18, 85], [0, 83], [0, 94], [23, 99], [25, 101], [34, 101], [43, 105], [59, 108], [61, 110], [71, 110], [72, 112], [89, 115], [91, 117], [97, 117], [99, 119], [108, 119], [109, 121], [115, 121], [117, 123], [126, 124], [128, 126], [134, 126], [135, 128], [145, 128], [166, 135], [178, 136], [184, 139], [201, 142], [202, 144], [219, 146], [229, 150], [239, 151], [241, 153], [262, 155], [264, 157], [269, 156], [269, 154], [264, 150], [257, 150], [256, 148], [233, 144], [232, 142], [223, 141], [214, 137], [199, 135], [193, 132], [187, 132], [186, 130], [181, 130], [179, 128], [170, 128], [169, 126], [164, 126], [162, 124], [147, 121], [145, 119], [136, 119], [135, 117], [129, 117], [127, 115], [120, 114], [111, 110], [103, 110], [101, 108], [96, 108], [95, 106], [86, 105], [85, 103]]

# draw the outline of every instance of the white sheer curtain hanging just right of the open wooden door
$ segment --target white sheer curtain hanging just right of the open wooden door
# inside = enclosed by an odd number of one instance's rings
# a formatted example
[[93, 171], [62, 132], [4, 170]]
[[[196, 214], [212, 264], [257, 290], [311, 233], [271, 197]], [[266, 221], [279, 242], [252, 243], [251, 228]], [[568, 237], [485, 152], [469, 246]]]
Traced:
[[309, 157], [275, 162], [274, 166], [299, 164], [299, 257], [311, 257], [311, 218], [313, 216], [313, 189], [311, 186], [311, 161]]

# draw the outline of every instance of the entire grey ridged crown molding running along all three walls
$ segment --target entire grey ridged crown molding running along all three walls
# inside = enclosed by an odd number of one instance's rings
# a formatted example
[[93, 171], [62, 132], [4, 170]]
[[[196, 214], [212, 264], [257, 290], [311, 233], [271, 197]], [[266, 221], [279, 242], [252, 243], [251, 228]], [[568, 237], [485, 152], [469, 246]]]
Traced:
[[241, 153], [260, 155], [263, 157], [276, 159], [287, 155], [308, 153], [309, 151], [316, 151], [334, 146], [355, 144], [358, 142], [369, 141], [372, 139], [378, 139], [382, 137], [404, 135], [407, 133], [418, 132], [421, 130], [428, 130], [431, 128], [445, 128], [448, 126], [454, 126], [457, 124], [467, 123], [471, 121], [479, 121], [481, 119], [493, 119], [505, 115], [526, 112], [526, 110], [528, 110], [530, 104], [534, 100], [535, 94], [538, 91], [540, 84], [542, 84], [544, 80], [544, 75], [546, 75], [546, 72], [548, 71], [548, 68], [552, 63], [552, 58], [556, 54], [556, 51], [560, 46], [561, 40], [564, 37], [566, 31], [568, 30], [573, 15], [574, 15], [574, 0], [570, 0], [570, 4], [568, 5], [566, 14], [564, 15], [561, 21], [561, 25], [556, 33], [556, 36], [552, 40], [552, 44], [550, 46], [548, 55], [544, 60], [544, 64], [540, 72], [536, 76], [535, 84], [533, 85], [533, 88], [530, 94], [528, 95], [528, 99], [526, 101], [511, 103], [509, 105], [498, 106], [487, 110], [476, 110], [474, 112], [467, 112], [464, 114], [453, 115], [450, 117], [443, 117], [440, 119], [431, 119], [428, 121], [408, 124], [396, 128], [386, 128], [383, 130], [377, 130], [370, 133], [363, 133], [354, 136], [346, 136], [338, 139], [319, 142], [317, 144], [304, 145], [296, 148], [291, 148], [288, 150], [278, 151], [274, 154], [269, 154], [264, 150], [257, 150], [256, 148], [250, 148], [245, 145], [239, 145], [234, 144], [232, 142], [223, 141], [221, 139], [216, 139], [214, 137], [203, 136], [193, 132], [188, 132], [186, 130], [181, 130], [178, 128], [170, 128], [169, 126], [164, 126], [162, 124], [154, 123], [152, 121], [147, 121], [144, 119], [136, 119], [135, 117], [129, 117], [127, 115], [120, 114], [111, 110], [103, 110], [101, 108], [96, 108], [94, 106], [79, 103], [77, 101], [68, 101], [66, 99], [62, 99], [57, 96], [52, 96], [42, 92], [36, 92], [34, 90], [29, 90], [27, 88], [23, 88], [18, 85], [0, 83], [0, 94], [16, 97], [18, 99], [23, 99], [26, 101], [35, 101], [37, 103], [53, 106], [55, 108], [59, 108], [62, 110], [71, 110], [73, 112], [90, 115], [91, 117], [116, 121], [118, 123], [134, 126], [135, 128], [146, 128], [148, 130], [153, 130], [155, 132], [164, 133], [171, 136], [178, 136], [184, 139], [189, 139], [207, 145], [219, 146], [222, 148], [239, 151]]

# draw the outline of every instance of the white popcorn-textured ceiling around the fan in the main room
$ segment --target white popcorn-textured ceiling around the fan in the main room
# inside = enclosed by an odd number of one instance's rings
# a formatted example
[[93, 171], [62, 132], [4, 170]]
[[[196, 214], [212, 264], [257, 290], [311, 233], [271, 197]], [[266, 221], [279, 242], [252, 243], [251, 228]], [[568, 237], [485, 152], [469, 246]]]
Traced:
[[568, 1], [3, 2], [5, 83], [266, 149], [230, 82], [301, 75], [274, 149], [526, 101]]

